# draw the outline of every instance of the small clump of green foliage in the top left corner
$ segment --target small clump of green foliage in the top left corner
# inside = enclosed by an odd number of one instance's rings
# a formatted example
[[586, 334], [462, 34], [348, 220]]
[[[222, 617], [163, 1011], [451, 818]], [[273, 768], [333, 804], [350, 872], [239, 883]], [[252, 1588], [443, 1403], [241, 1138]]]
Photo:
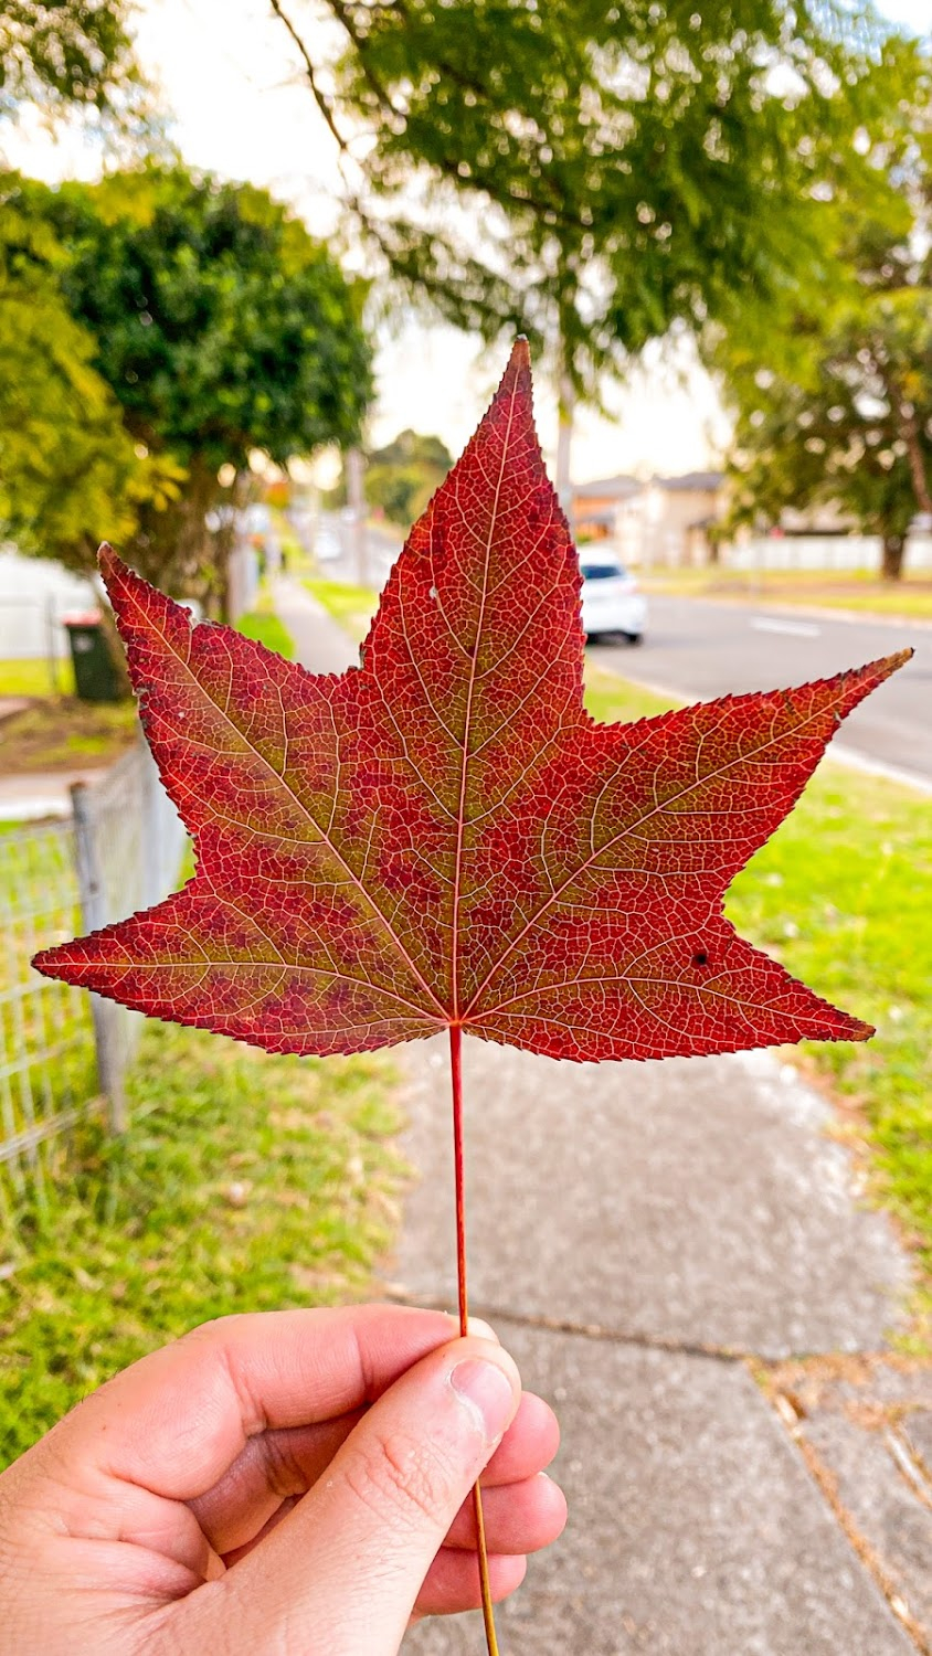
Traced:
[[0, 116], [22, 103], [108, 109], [137, 70], [127, 0], [7, 0], [0, 12]]

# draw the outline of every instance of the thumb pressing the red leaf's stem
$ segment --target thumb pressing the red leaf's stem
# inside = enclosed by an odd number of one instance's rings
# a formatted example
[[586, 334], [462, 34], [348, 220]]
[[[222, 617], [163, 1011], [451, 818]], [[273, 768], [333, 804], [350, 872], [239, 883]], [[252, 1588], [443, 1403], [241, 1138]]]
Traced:
[[490, 1340], [454, 1340], [407, 1370], [310, 1494], [217, 1583], [230, 1593], [225, 1648], [258, 1656], [288, 1639], [326, 1656], [396, 1656], [520, 1396], [515, 1363]]

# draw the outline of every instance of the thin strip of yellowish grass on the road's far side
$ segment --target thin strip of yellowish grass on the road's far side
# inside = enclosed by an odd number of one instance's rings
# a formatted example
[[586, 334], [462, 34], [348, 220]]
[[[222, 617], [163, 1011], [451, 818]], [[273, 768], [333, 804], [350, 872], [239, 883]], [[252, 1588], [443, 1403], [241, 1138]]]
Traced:
[[932, 580], [910, 575], [881, 581], [869, 570], [730, 570], [705, 565], [692, 570], [641, 571], [649, 593], [685, 598], [733, 598], [747, 603], [809, 604], [816, 609], [856, 609], [899, 616], [906, 621], [932, 619]]

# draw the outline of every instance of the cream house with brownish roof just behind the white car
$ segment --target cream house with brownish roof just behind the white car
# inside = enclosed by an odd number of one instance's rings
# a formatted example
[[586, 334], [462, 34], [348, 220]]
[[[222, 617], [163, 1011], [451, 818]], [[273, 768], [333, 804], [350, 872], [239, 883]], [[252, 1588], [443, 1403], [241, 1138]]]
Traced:
[[682, 477], [606, 477], [573, 490], [581, 540], [611, 538], [627, 563], [704, 563], [723, 510], [722, 472]]

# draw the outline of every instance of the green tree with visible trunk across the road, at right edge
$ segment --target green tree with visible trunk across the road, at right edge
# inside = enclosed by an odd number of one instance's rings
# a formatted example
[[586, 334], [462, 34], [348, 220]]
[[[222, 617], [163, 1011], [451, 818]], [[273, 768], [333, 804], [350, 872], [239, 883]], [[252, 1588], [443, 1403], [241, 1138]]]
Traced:
[[735, 409], [732, 523], [831, 502], [881, 537], [886, 580], [932, 515], [932, 63], [924, 89], [872, 154], [887, 184], [872, 214], [836, 204], [833, 298], [796, 296], [768, 338], [735, 328], [713, 346]]

